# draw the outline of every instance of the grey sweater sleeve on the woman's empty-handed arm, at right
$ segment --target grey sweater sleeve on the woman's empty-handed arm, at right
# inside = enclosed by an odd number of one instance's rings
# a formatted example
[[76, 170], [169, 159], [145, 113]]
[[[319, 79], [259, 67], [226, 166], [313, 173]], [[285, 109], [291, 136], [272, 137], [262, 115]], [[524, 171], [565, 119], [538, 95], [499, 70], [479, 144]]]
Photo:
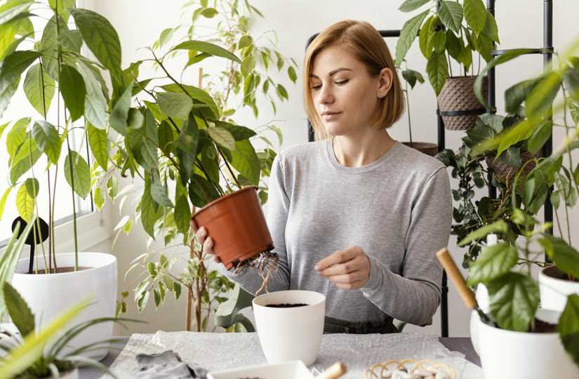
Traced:
[[442, 279], [436, 252], [448, 245], [451, 224], [451, 187], [443, 166], [430, 175], [412, 208], [401, 275], [368, 255], [370, 277], [360, 288], [364, 296], [395, 319], [420, 326], [432, 324]]

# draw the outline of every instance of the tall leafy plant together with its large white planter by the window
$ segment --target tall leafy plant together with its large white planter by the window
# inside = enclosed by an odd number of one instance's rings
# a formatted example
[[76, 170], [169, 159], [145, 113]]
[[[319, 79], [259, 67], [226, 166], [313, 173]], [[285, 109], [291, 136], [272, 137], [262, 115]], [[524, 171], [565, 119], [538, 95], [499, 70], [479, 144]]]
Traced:
[[[30, 12], [31, 6], [36, 13], [50, 15], [48, 18], [40, 17]], [[2, 15], [1, 27], [10, 31], [3, 34], [3, 38], [6, 36], [11, 45], [3, 52], [1, 60], [0, 115], [8, 107], [19, 81], [23, 81], [25, 95], [39, 115], [27, 114], [2, 127], [2, 131], [4, 128], [8, 130], [10, 175], [0, 209], [4, 208], [11, 189], [17, 186], [16, 206], [27, 222], [32, 222], [34, 215], [40, 213], [37, 197], [46, 194], [49, 204], [48, 248], [42, 243], [41, 248], [36, 249], [32, 257], [34, 264], [30, 258], [20, 260], [12, 284], [32, 307], [39, 326], [88, 294], [94, 296], [95, 303], [81, 312], [76, 323], [113, 317], [117, 297], [116, 258], [105, 253], [79, 253], [77, 247], [74, 196], [88, 197], [92, 183], [88, 163], [80, 150], [72, 149], [70, 139], [73, 134], [83, 140], [88, 138], [87, 149], [98, 164], [107, 166], [105, 128], [109, 91], [101, 70], [105, 69], [111, 75], [115, 92], [123, 88], [117, 32], [101, 15], [75, 8], [75, 2], [70, 0], [51, 0], [46, 4], [9, 1], [2, 6]], [[41, 28], [39, 38], [32, 28], [32, 18], [46, 20], [41, 24], [44, 29]], [[36, 29], [38, 27], [36, 25]], [[83, 45], [88, 46], [98, 62], [82, 55]], [[66, 157], [60, 159], [65, 152]], [[46, 187], [36, 177], [39, 173], [46, 173]], [[57, 180], [62, 178], [71, 187], [75, 248], [72, 253], [56, 254], [55, 191]], [[40, 220], [36, 218], [36, 222]], [[36, 230], [41, 228], [35, 227]], [[39, 244], [41, 236], [36, 232], [33, 234], [35, 244]], [[29, 270], [30, 267], [33, 270]], [[71, 283], [82, 285], [71, 286]], [[107, 338], [111, 333], [112, 323], [101, 323], [78, 335], [72, 345], [86, 345], [97, 338]], [[91, 356], [97, 357], [95, 354], [92, 352]], [[106, 350], [101, 351], [99, 357], [105, 354]]]

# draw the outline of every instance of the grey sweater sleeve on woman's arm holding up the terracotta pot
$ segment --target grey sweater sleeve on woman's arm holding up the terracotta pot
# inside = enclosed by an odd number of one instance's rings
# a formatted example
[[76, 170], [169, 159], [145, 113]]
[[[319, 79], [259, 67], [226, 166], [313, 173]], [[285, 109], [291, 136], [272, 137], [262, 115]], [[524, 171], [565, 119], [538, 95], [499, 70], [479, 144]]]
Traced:
[[[267, 291], [269, 292], [289, 289], [290, 270], [285, 239], [289, 206], [290, 200], [284, 185], [284, 167], [281, 164], [281, 157], [278, 155], [272, 164], [267, 197], [267, 227], [269, 227], [269, 233], [272, 234], [273, 252], [277, 253], [279, 257], [277, 270], [272, 272], [267, 281]], [[219, 271], [229, 279], [239, 283], [241, 288], [252, 295], [258, 291], [262, 284], [262, 278], [257, 270], [249, 267], [239, 274], [233, 274], [232, 270], [227, 270], [224, 265], [219, 265]]]

